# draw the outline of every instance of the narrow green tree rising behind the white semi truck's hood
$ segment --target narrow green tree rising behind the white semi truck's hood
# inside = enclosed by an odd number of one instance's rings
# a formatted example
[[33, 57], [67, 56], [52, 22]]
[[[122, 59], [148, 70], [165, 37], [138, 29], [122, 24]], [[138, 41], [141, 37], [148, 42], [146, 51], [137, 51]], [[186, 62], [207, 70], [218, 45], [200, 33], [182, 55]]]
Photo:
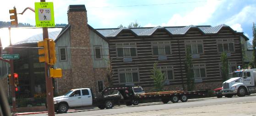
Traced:
[[221, 75], [223, 77], [223, 81], [227, 81], [229, 79], [229, 61], [226, 52], [223, 52], [220, 57], [221, 60]]

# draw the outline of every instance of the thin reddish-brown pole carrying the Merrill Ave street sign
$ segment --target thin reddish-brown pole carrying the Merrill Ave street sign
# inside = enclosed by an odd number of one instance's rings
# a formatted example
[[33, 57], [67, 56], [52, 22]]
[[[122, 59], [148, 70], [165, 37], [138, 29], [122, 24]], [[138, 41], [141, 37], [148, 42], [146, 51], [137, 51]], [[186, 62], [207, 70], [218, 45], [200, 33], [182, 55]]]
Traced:
[[[11, 47], [11, 27], [9, 29], [9, 39], [10, 39], [10, 48], [9, 48], [9, 54], [12, 54], [13, 50]], [[15, 86], [14, 86], [14, 67], [13, 67], [13, 60], [10, 59], [10, 66], [11, 66], [11, 100], [12, 100], [12, 112], [15, 114], [17, 112], [16, 109], [16, 97], [15, 97]]]

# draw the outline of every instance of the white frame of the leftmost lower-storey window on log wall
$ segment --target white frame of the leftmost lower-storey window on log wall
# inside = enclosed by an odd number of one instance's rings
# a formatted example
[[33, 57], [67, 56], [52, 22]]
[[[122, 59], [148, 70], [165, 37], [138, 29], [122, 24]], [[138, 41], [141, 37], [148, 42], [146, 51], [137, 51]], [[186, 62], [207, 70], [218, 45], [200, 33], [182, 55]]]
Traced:
[[[132, 73], [136, 72], [138, 74], [138, 81], [133, 82], [133, 77], [132, 77], [132, 82], [126, 82], [126, 73]], [[120, 74], [125, 73], [125, 82], [121, 82]], [[138, 67], [131, 67], [131, 68], [120, 68], [118, 69], [118, 79], [119, 79], [119, 84], [131, 84], [131, 83], [139, 83], [140, 82], [140, 73], [139, 73], [139, 68]]]

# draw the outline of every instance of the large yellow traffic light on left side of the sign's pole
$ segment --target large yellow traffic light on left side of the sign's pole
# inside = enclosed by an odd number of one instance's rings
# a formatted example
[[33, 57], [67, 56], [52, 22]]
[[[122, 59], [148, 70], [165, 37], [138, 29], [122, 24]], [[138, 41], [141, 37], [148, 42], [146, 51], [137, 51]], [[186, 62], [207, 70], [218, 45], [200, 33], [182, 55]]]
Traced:
[[38, 41], [38, 47], [44, 47], [44, 48], [38, 50], [38, 55], [44, 55], [44, 56], [39, 56], [39, 62], [49, 63], [47, 41], [48, 41], [48, 39], [44, 39], [43, 41]]

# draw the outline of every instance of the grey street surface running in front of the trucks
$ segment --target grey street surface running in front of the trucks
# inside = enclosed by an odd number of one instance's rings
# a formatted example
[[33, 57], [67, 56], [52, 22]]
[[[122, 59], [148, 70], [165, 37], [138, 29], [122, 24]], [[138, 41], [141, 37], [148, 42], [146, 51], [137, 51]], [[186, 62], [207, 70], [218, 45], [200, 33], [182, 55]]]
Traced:
[[[105, 116], [105, 115], [114, 115], [114, 116], [147, 116], [145, 113], [150, 113], [150, 111], [184, 111], [185, 108], [194, 108], [194, 111], [202, 111], [203, 108], [207, 108], [206, 110], [211, 109], [211, 106], [215, 106], [215, 109], [221, 108], [218, 105], [233, 105], [234, 104], [242, 104], [242, 102], [252, 103], [252, 106], [256, 106], [256, 96], [245, 96], [245, 97], [233, 97], [233, 98], [212, 98], [212, 99], [193, 99], [187, 102], [179, 102], [179, 103], [168, 103], [163, 104], [162, 102], [151, 103], [151, 104], [141, 104], [138, 106], [114, 106], [113, 109], [92, 109], [92, 110], [81, 110], [81, 111], [72, 111], [65, 114], [55, 114], [55, 116]], [[226, 107], [226, 106], [222, 106]], [[229, 107], [229, 106], [227, 106]], [[230, 106], [231, 107], [231, 106]], [[230, 109], [229, 109], [230, 110]], [[148, 112], [149, 111], [149, 112]], [[142, 115], [138, 115], [137, 113], [142, 113]], [[227, 113], [228, 111], [226, 111]], [[156, 112], [155, 112], [156, 113]], [[170, 113], [170, 112], [169, 112]], [[128, 114], [128, 115], [127, 115]], [[135, 115], [136, 114], [136, 115]], [[152, 113], [150, 113], [152, 114]], [[255, 112], [256, 114], [256, 112]], [[149, 114], [148, 114], [149, 115]], [[29, 116], [29, 115], [27, 115]], [[37, 114], [33, 116], [48, 116], [47, 113]], [[162, 115], [152, 115], [152, 116], [169, 116], [168, 113]], [[256, 115], [254, 115], [256, 116]]]

